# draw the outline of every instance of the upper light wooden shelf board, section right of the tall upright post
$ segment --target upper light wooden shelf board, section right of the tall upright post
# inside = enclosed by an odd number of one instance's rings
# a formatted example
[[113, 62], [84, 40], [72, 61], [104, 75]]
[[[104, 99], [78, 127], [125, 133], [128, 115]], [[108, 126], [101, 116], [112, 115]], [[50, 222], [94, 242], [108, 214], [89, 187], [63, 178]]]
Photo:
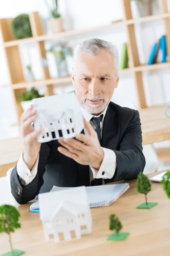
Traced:
[[170, 17], [170, 13], [163, 13], [160, 15], [153, 15], [153, 16], [141, 17], [138, 19], [125, 20], [124, 22], [127, 25], [131, 25], [131, 24], [143, 23], [143, 22], [152, 21], [152, 20], [159, 20], [159, 19], [168, 18], [168, 17]]

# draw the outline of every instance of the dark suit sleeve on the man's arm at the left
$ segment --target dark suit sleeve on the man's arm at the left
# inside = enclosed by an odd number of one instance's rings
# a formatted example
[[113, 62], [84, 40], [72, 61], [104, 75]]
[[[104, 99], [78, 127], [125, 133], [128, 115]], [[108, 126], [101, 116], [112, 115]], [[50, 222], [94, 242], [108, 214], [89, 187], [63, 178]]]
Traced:
[[51, 143], [52, 142], [41, 144], [37, 175], [27, 186], [21, 183], [17, 173], [17, 165], [11, 172], [11, 193], [17, 203], [26, 204], [39, 194], [40, 188], [44, 183], [43, 175], [45, 173], [45, 165], [48, 162], [48, 157], [50, 155]]

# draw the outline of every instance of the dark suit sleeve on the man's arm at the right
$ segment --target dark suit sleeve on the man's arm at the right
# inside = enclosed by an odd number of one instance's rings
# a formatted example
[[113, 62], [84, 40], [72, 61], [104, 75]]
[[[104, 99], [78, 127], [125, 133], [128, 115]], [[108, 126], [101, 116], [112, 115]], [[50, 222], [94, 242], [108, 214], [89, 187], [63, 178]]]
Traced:
[[120, 142], [119, 150], [113, 150], [116, 154], [117, 167], [112, 179], [105, 180], [110, 183], [117, 180], [136, 179], [139, 172], [143, 172], [145, 158], [142, 153], [142, 131], [139, 112], [134, 111], [127, 129]]

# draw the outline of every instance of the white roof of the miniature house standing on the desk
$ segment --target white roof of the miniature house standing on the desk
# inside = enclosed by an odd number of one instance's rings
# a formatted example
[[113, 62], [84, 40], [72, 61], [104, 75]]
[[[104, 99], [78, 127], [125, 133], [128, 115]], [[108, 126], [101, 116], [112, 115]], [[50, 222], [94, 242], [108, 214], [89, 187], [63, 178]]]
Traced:
[[59, 207], [65, 205], [67, 205], [71, 211], [75, 211], [77, 213], [82, 212], [82, 210], [89, 209], [85, 186], [42, 193], [38, 195], [38, 198], [41, 221], [50, 221], [57, 212], [57, 209], [59, 210]]

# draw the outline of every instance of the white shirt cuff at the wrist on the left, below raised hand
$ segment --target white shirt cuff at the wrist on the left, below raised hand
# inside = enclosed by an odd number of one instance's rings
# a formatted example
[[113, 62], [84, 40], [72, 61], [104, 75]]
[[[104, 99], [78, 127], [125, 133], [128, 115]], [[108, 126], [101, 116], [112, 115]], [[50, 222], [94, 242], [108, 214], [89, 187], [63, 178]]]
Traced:
[[23, 160], [23, 154], [21, 154], [18, 162], [17, 162], [17, 174], [20, 177], [20, 181], [22, 183], [22, 185], [28, 185], [29, 183], [31, 183], [31, 181], [34, 180], [34, 177], [37, 175], [37, 171], [38, 171], [38, 162], [39, 162], [39, 155], [37, 157], [37, 160], [32, 168], [32, 170], [30, 171], [30, 169], [28, 168], [28, 166], [26, 165], [26, 163]]

